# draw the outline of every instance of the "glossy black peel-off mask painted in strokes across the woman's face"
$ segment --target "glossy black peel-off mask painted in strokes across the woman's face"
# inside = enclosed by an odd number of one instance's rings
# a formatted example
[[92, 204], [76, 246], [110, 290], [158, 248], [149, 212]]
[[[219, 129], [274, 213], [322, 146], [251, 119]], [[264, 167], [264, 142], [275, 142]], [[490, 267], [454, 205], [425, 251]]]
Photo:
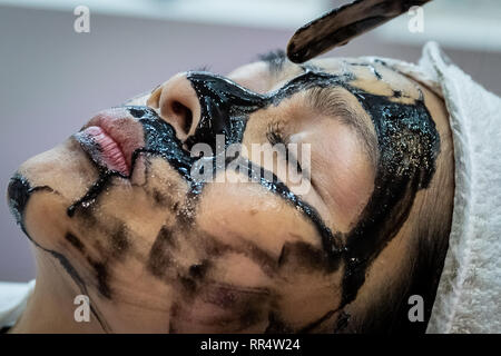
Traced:
[[[188, 195], [195, 204], [206, 182], [195, 181], [190, 176], [191, 167], [198, 158], [190, 157], [184, 144], [190, 148], [197, 142], [205, 142], [213, 147], [213, 151], [217, 151], [216, 135], [225, 135], [225, 146], [242, 144], [250, 113], [277, 106], [283, 99], [312, 88], [345, 88], [357, 98], [370, 115], [380, 149], [374, 191], [358, 222], [345, 235], [332, 231], [315, 208], [294, 195], [275, 175], [272, 175], [273, 179], [267, 180], [264, 177], [268, 175], [263, 174], [263, 167], [245, 159], [240, 160], [239, 167], [246, 168], [253, 181], [286, 200], [312, 221], [322, 238], [324, 256], [321, 258], [328, 261], [325, 264], [327, 271], [336, 270], [341, 261], [345, 265], [340, 308], [351, 303], [364, 283], [366, 268], [400, 230], [416, 192], [425, 189], [433, 177], [435, 158], [440, 151], [440, 138], [423, 98], [413, 103], [396, 103], [391, 97], [372, 95], [352, 87], [351, 82], [356, 79], [354, 75], [337, 76], [311, 68], [281, 89], [267, 95], [253, 92], [226, 78], [208, 72], [188, 72], [187, 79], [198, 96], [202, 117], [195, 134], [188, 137], [186, 142], [179, 141], [173, 126], [159, 118], [153, 109], [127, 107], [131, 116], [143, 125], [145, 135], [145, 147], [134, 152], [130, 175], [139, 155], [161, 157], [188, 184]], [[212, 159], [214, 169], [219, 169], [215, 157]], [[99, 201], [111, 178], [121, 176], [116, 171], [98, 169], [99, 179], [81, 199], [68, 207], [70, 218], [76, 216], [76, 211], [79, 216], [86, 215], [86, 211]], [[12, 178], [9, 186], [10, 206], [21, 226], [24, 207], [35, 191], [36, 188], [31, 188], [24, 178], [19, 176]], [[193, 211], [191, 209], [190, 212]], [[194, 218], [190, 214], [185, 220], [190, 224]], [[67, 271], [73, 279], [78, 279], [79, 285], [85, 285], [63, 256], [59, 256], [58, 259], [63, 266], [68, 266]], [[106, 276], [102, 268], [105, 266], [99, 266], [100, 275]], [[106, 278], [102, 283], [105, 286], [101, 294], [111, 298], [112, 295], [106, 288]], [[274, 330], [274, 327], [268, 329]]]

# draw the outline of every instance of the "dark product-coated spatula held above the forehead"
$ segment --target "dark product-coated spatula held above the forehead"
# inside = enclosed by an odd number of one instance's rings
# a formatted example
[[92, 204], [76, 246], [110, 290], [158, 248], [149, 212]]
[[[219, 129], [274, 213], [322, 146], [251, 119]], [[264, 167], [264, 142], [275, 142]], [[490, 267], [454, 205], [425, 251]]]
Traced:
[[305, 62], [431, 0], [355, 0], [301, 27], [287, 44], [287, 57]]

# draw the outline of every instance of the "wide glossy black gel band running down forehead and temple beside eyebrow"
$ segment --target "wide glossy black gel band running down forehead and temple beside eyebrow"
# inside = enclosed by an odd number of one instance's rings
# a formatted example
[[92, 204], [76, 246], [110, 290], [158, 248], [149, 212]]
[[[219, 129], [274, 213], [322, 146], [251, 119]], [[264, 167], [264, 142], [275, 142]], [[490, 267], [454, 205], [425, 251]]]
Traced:
[[429, 187], [440, 152], [440, 136], [421, 96], [412, 105], [352, 91], [372, 118], [380, 158], [374, 191], [346, 241], [343, 298], [350, 303], [366, 268], [406, 220], [415, 194]]

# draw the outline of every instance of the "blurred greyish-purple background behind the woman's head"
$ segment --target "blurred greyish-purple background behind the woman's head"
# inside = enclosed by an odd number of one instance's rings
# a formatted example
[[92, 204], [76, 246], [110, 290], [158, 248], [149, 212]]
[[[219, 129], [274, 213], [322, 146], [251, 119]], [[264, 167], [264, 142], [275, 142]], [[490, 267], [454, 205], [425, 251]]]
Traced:
[[[71, 11], [0, 6], [0, 187], [17, 167], [77, 131], [95, 112], [151, 89], [178, 71], [208, 66], [225, 73], [284, 48], [292, 30], [91, 14], [90, 33], [73, 31]], [[451, 59], [501, 93], [501, 53], [452, 50]], [[419, 46], [392, 44], [373, 33], [331, 56], [376, 55], [409, 61]], [[35, 265], [28, 239], [0, 204], [0, 280], [28, 280]]]

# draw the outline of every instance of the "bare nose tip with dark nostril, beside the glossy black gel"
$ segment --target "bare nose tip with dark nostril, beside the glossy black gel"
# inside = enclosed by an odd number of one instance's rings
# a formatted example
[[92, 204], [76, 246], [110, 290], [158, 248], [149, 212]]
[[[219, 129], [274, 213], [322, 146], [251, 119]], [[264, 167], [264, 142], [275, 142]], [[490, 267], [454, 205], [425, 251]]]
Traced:
[[147, 105], [176, 130], [179, 140], [193, 135], [200, 119], [197, 93], [185, 73], [178, 73], [151, 92]]

